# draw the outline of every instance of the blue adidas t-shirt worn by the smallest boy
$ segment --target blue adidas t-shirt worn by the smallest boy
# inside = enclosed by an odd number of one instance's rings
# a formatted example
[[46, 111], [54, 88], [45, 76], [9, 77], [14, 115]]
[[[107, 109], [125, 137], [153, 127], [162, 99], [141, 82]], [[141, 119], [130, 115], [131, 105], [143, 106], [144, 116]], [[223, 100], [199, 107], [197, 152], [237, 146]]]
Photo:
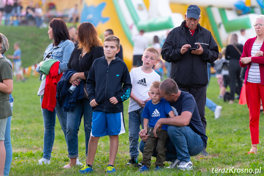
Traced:
[[[148, 101], [144, 107], [141, 117], [149, 119], [149, 127], [154, 128], [158, 119], [167, 118], [172, 110], [168, 101], [164, 98], [158, 104], [153, 104], [152, 100]], [[167, 131], [168, 125], [162, 125], [162, 129]]]

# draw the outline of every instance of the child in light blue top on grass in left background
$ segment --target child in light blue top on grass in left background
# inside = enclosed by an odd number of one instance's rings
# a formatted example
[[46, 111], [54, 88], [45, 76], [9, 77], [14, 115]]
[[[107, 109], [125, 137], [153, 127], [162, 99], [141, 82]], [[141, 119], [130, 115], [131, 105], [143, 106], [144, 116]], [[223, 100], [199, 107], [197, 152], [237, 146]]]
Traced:
[[15, 52], [13, 55], [7, 55], [8, 58], [13, 59], [14, 63], [14, 73], [17, 75], [17, 82], [21, 81], [24, 82], [26, 79], [24, 78], [23, 74], [21, 74], [20, 67], [21, 67], [21, 50], [19, 47], [19, 43], [14, 43]]

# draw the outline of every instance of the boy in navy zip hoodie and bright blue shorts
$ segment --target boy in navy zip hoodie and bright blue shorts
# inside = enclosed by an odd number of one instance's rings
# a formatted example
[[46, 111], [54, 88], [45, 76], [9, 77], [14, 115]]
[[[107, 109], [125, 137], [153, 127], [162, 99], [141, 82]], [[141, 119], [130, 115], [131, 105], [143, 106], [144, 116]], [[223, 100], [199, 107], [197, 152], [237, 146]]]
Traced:
[[87, 78], [90, 105], [93, 107], [92, 130], [88, 144], [86, 165], [79, 172], [93, 171], [93, 161], [101, 136], [109, 135], [109, 163], [107, 173], [113, 167], [118, 150], [118, 135], [125, 133], [123, 101], [128, 99], [132, 84], [128, 68], [115, 55], [120, 51], [120, 40], [113, 35], [104, 40], [105, 56], [95, 59]]

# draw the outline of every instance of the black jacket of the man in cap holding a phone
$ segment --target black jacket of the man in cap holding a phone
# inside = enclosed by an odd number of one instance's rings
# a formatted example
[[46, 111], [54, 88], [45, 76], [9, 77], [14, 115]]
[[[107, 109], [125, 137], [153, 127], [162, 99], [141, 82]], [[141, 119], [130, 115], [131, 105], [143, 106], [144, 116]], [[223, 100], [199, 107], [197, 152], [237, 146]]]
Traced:
[[198, 23], [194, 43], [201, 44], [203, 54], [191, 54], [190, 50], [181, 54], [180, 49], [183, 45], [193, 45], [185, 29], [183, 21], [179, 27], [169, 32], [162, 46], [162, 58], [171, 62], [170, 78], [179, 87], [204, 87], [208, 84], [207, 62], [213, 63], [218, 58], [218, 46], [211, 32]]

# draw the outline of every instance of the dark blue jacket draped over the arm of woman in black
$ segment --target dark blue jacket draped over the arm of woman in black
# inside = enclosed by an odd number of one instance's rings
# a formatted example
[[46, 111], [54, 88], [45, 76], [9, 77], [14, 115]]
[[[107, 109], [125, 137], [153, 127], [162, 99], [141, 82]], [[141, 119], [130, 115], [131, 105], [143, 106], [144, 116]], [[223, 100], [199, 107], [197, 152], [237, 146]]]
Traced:
[[80, 82], [80, 85], [76, 87], [73, 93], [68, 91], [72, 85], [69, 83], [69, 79], [74, 73], [74, 69], [68, 69], [62, 75], [60, 81], [57, 84], [56, 99], [59, 107], [64, 107], [64, 111], [73, 111], [77, 100], [84, 98], [84, 81]]

